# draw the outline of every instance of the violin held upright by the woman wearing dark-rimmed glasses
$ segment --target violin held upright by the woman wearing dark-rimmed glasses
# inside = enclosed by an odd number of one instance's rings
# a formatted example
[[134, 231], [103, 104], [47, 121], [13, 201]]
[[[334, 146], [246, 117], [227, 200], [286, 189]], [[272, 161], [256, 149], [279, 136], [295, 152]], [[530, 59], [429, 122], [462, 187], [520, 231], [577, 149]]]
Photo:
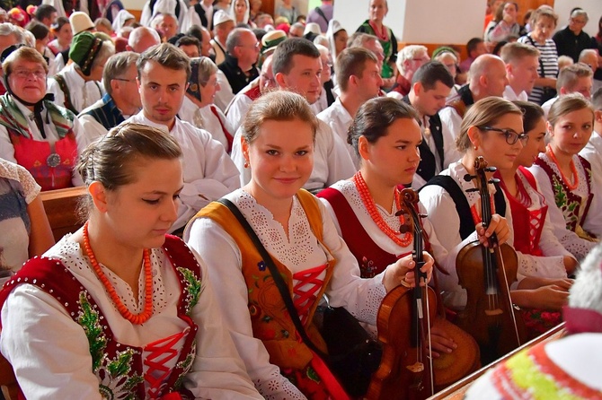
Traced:
[[[481, 197], [482, 227], [491, 222], [491, 196], [486, 173], [496, 168], [477, 157], [474, 161], [476, 176], [465, 175], [465, 180], [476, 179], [476, 187], [469, 191], [479, 192]], [[527, 329], [510, 298], [510, 285], [517, 281], [518, 257], [507, 244], [498, 246], [495, 235], [488, 246], [477, 240], [462, 248], [456, 257], [456, 272], [460, 285], [465, 288], [465, 309], [458, 314], [456, 324], [473, 335], [481, 349], [481, 361], [485, 365], [516, 349], [526, 342]]]

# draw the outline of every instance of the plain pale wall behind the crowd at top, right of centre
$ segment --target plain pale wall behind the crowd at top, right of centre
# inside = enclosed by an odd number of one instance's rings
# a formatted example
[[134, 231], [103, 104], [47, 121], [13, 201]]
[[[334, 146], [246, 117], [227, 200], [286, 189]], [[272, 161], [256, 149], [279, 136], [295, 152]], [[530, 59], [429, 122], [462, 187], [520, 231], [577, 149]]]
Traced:
[[[602, 0], [592, 0], [602, 2]], [[353, 33], [367, 20], [369, 0], [334, 3], [334, 19]], [[385, 25], [399, 42], [464, 44], [482, 36], [483, 0], [390, 0]]]

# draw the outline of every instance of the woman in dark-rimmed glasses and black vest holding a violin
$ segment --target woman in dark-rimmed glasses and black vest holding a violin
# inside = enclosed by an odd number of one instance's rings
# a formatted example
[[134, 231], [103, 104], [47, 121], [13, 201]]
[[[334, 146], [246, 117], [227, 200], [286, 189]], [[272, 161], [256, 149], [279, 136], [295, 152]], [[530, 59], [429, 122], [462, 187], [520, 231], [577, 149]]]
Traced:
[[[473, 227], [481, 222], [481, 197], [478, 192], [467, 191], [474, 189], [475, 183], [474, 179], [465, 180], [465, 175], [475, 175], [474, 161], [479, 156], [490, 166], [512, 168], [527, 143], [527, 135], [523, 134], [522, 115], [522, 111], [508, 100], [486, 98], [477, 101], [467, 111], [456, 140], [458, 150], [464, 152], [463, 158], [450, 164], [447, 170], [431, 179], [421, 190], [421, 203], [427, 210], [439, 243], [447, 248], [451, 259], [456, 259], [459, 250], [476, 239]], [[489, 185], [489, 191], [492, 195], [491, 222], [497, 223], [498, 243], [508, 241], [513, 246], [512, 213], [508, 199], [492, 184]], [[463, 204], [466, 206], [462, 207]], [[551, 278], [566, 278], [566, 272], [560, 267], [557, 276], [552, 276], [546, 272], [547, 264], [547, 257], [518, 252], [518, 285], [511, 291], [514, 303], [529, 308], [550, 307], [542, 287], [555, 283]], [[444, 302], [451, 309], [464, 309], [466, 292], [458, 284], [455, 263], [441, 266], [447, 272], [438, 274]]]

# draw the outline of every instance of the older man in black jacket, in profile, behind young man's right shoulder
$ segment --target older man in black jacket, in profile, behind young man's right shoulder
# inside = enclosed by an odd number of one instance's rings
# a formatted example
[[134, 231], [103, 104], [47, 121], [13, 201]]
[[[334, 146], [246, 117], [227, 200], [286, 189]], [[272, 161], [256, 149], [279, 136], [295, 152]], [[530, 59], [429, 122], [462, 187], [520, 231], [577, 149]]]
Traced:
[[238, 93], [259, 76], [255, 63], [259, 58], [260, 42], [252, 30], [235, 28], [226, 40], [226, 60], [218, 65], [226, 74], [233, 93]]

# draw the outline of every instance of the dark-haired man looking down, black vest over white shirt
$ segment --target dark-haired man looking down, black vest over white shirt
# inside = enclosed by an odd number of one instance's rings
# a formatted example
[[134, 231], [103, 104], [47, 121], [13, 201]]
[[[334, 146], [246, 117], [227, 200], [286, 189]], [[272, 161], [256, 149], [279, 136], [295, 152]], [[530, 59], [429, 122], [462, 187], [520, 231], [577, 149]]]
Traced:
[[430, 178], [447, 169], [450, 162], [461, 158], [461, 154], [455, 150], [454, 137], [444, 135], [438, 116], [438, 111], [445, 107], [447, 96], [453, 87], [454, 78], [446, 66], [438, 61], [430, 61], [413, 74], [412, 89], [403, 98], [421, 118], [421, 162], [412, 181], [414, 189], [420, 189]]

